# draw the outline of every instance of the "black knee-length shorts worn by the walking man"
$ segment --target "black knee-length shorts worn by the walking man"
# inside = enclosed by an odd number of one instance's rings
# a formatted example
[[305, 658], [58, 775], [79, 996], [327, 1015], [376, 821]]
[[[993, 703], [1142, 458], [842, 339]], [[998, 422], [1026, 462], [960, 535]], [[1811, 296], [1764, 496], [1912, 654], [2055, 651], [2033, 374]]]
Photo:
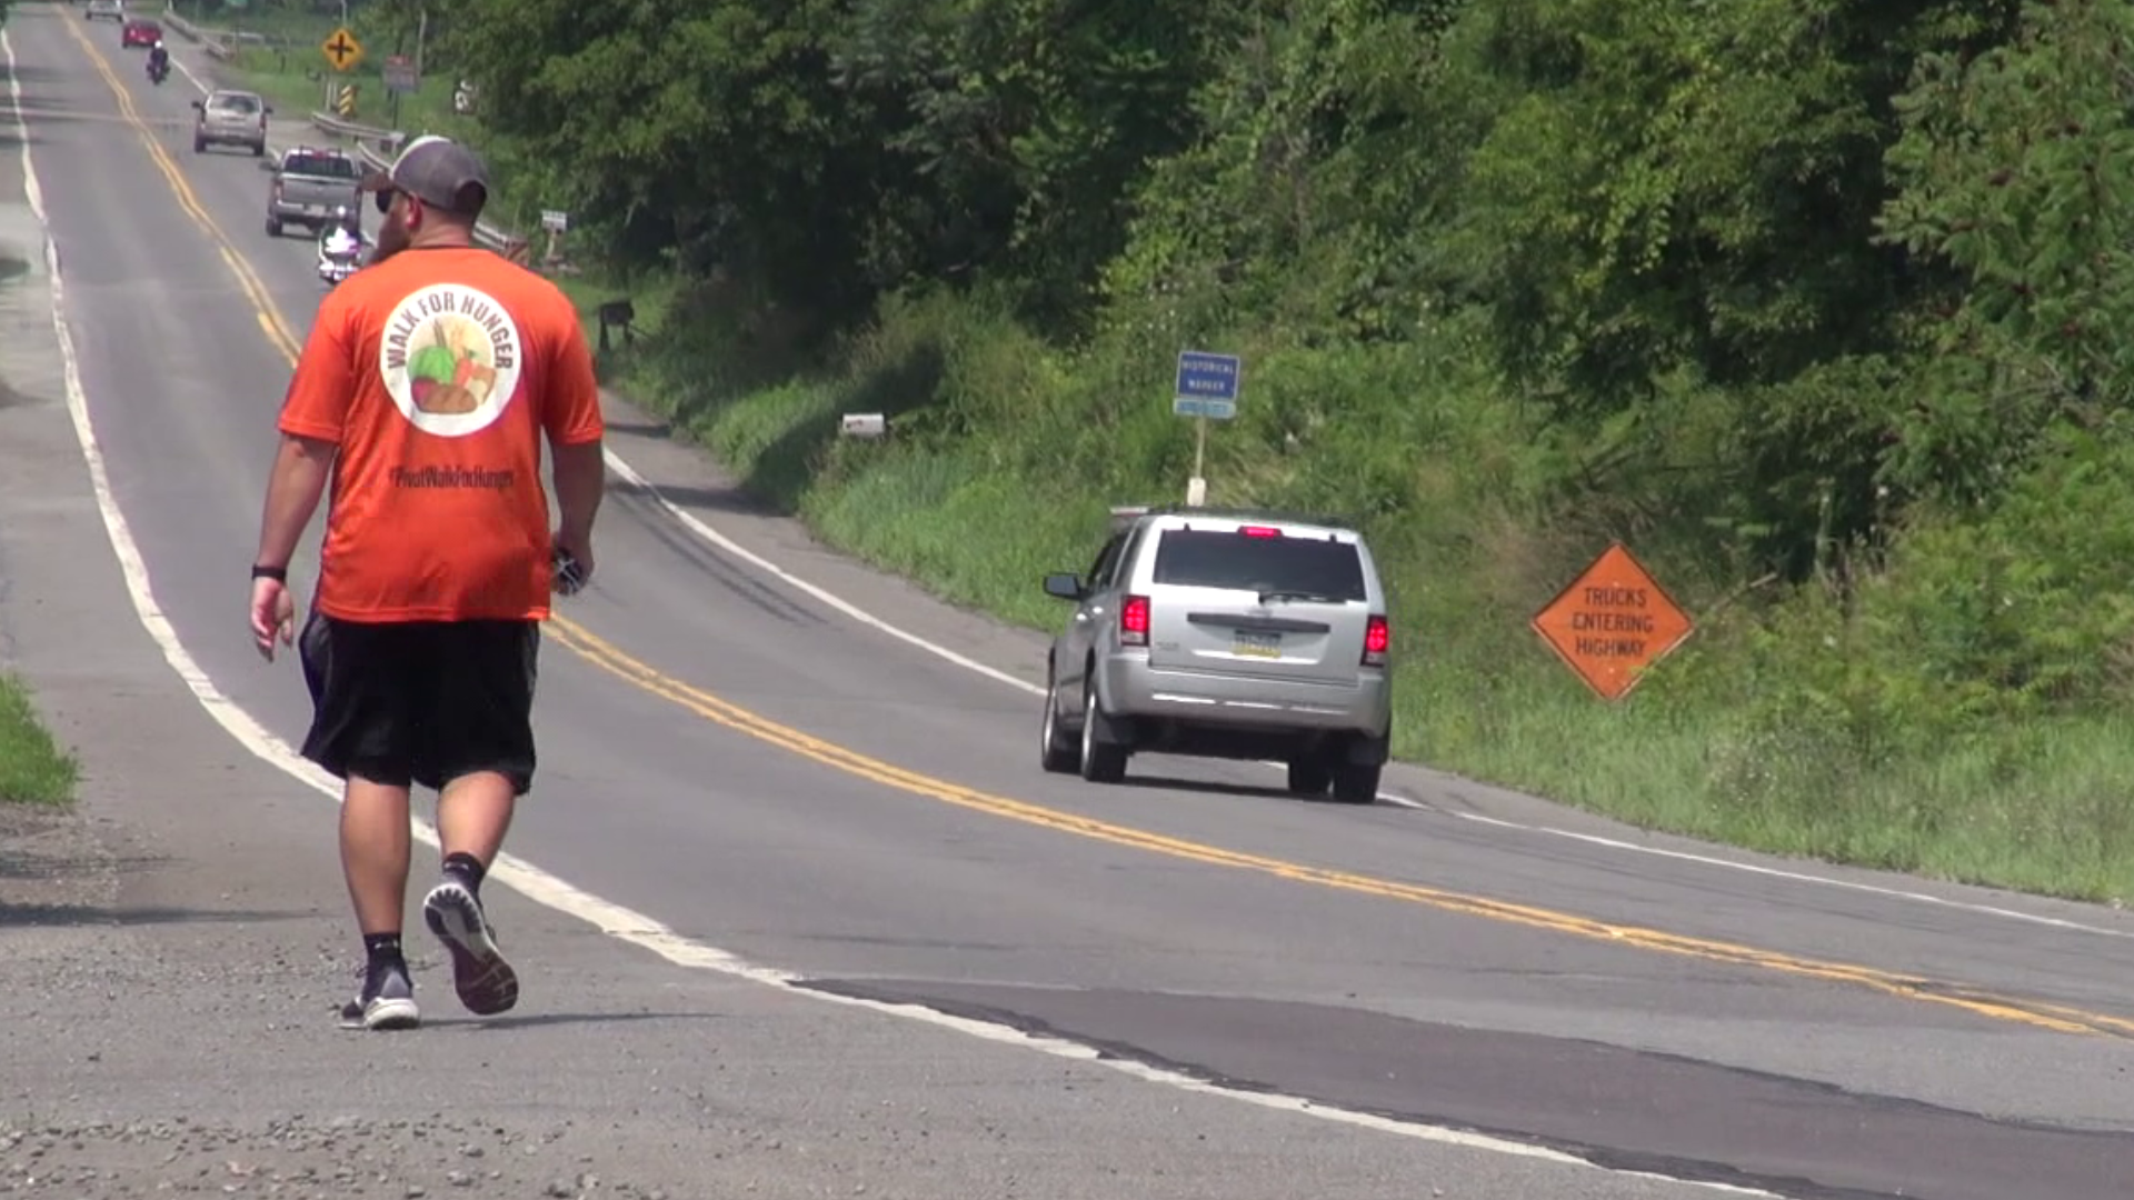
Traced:
[[344, 621], [312, 613], [297, 643], [312, 688], [303, 756], [350, 775], [442, 790], [497, 771], [534, 786], [536, 621]]

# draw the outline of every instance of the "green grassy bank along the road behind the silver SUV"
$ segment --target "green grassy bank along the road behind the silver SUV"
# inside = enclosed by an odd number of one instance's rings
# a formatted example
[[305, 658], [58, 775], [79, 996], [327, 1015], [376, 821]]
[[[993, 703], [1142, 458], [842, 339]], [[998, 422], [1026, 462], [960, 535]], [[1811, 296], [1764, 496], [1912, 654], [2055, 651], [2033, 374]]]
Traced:
[[[674, 421], [753, 495], [839, 551], [1029, 628], [1061, 619], [1037, 581], [1086, 566], [1105, 506], [1163, 500], [1191, 463], [1165, 406], [1097, 397], [1150, 397], [1163, 389], [1152, 372], [1063, 357], [969, 301], [892, 305], [832, 369], [779, 376], [751, 369], [745, 344], [704, 322], [659, 327], [670, 288], [570, 290], [587, 314], [634, 297], [649, 337], [606, 359], [608, 382]], [[1398, 758], [1778, 854], [2134, 897], [2134, 717], [2010, 709], [1995, 720], [1940, 692], [1938, 664], [1918, 647], [1970, 634], [1950, 632], [1933, 606], [1938, 559], [1893, 572], [1865, 600], [1872, 621], [1916, 630], [1867, 641], [1857, 615], [1814, 589], [1737, 602], [1729, 581], [1697, 574], [1692, 555], [1654, 534], [1635, 549], [1701, 628], [1628, 702], [1605, 705], [1526, 628], [1605, 540], [1551, 521], [1536, 463], [1549, 451], [1530, 446], [1515, 410], [1477, 401], [1485, 384], [1445, 378], [1428, 352], [1408, 365], [1263, 361], [1261, 397], [1276, 416], [1342, 382], [1415, 397], [1398, 425], [1321, 429], [1312, 457], [1285, 457], [1278, 431], [1240, 421], [1214, 440], [1210, 472], [1214, 502], [1366, 512], [1411, 662]], [[837, 440], [837, 414], [854, 410], [890, 412], [901, 433]], [[1372, 512], [1387, 491], [1413, 500]], [[2091, 517], [2076, 504], [2066, 521]], [[2023, 544], [2036, 532], [2006, 536]], [[1970, 572], [2000, 549], [1948, 553]]]

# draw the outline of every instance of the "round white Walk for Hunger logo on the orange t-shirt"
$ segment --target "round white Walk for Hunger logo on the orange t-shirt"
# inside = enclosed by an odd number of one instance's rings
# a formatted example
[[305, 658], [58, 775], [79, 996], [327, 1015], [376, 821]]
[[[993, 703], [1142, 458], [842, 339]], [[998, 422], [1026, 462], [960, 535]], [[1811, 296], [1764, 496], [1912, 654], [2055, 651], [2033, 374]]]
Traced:
[[416, 429], [465, 438], [501, 416], [519, 389], [519, 327], [495, 299], [435, 284], [386, 318], [378, 374]]

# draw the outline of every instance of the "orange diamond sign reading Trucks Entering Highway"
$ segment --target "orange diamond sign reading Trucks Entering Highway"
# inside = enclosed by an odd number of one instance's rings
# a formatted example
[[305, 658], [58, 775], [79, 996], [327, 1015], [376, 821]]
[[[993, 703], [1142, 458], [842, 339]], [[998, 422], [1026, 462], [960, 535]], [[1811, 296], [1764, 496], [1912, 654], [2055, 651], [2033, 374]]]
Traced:
[[1534, 632], [1600, 694], [1622, 700], [1647, 666], [1690, 636], [1690, 617], [1622, 542], [1534, 615]]

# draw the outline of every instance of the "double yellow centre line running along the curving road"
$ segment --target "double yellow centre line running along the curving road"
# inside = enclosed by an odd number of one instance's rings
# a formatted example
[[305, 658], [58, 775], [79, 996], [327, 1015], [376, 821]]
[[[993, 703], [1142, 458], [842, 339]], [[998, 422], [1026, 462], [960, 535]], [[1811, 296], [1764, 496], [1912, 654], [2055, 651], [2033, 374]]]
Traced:
[[[169, 152], [164, 152], [164, 147], [149, 132], [147, 124], [141, 120], [141, 113], [132, 105], [132, 96], [128, 96], [117, 75], [111, 73], [111, 66], [105, 62], [102, 53], [81, 34], [81, 30], [75, 26], [70, 17], [66, 19], [66, 28], [75, 36], [75, 41], [81, 43], [83, 53], [87, 53], [92, 64], [96, 64], [96, 70], [105, 77], [105, 83], [117, 98], [120, 111], [124, 113], [126, 122], [132, 124], [134, 130], [141, 135], [143, 145], [147, 145], [149, 158], [156, 162], [156, 169], [162, 171], [162, 177], [171, 184], [171, 190], [177, 194], [179, 205], [201, 226], [201, 231], [207, 233], [209, 239], [213, 239], [216, 248], [222, 254], [222, 260], [230, 267], [230, 273], [237, 278], [237, 286], [243, 288], [245, 297], [250, 297], [260, 329], [267, 333], [267, 340], [294, 367], [297, 357], [301, 352], [299, 337], [282, 320], [280, 310], [275, 307], [273, 299], [267, 293], [267, 286], [252, 271], [252, 265], [237, 250], [237, 246], [222, 233], [216, 220], [207, 214], [207, 207], [201, 205], [201, 199], [194, 194], [192, 186], [186, 184], [186, 177], [177, 169], [177, 162], [171, 160]], [[681, 679], [674, 679], [640, 662], [638, 658], [632, 658], [623, 649], [615, 647], [612, 643], [608, 643], [600, 634], [593, 634], [591, 630], [572, 621], [570, 617], [563, 615], [551, 617], [546, 621], [546, 632], [551, 641], [580, 656], [585, 662], [598, 666], [600, 670], [606, 670], [608, 675], [615, 675], [617, 679], [642, 692], [670, 700], [713, 724], [726, 726], [734, 732], [743, 732], [747, 737], [798, 754], [824, 767], [832, 767], [847, 775], [856, 775], [860, 779], [869, 779], [886, 788], [894, 788], [915, 796], [926, 796], [939, 803], [988, 814], [994, 818], [1050, 828], [1056, 833], [1069, 833], [1093, 841], [1105, 841], [1129, 850], [1163, 854], [1187, 863], [1201, 863], [1208, 867], [1225, 867], [1233, 871], [1251, 871], [1257, 875], [1268, 875], [1295, 884], [1310, 884], [1353, 895], [1415, 903], [1438, 912], [1479, 916], [1504, 925], [1517, 925], [1547, 933], [1562, 933], [1571, 937], [1605, 942], [1611, 946], [1630, 946], [1637, 950], [1647, 950], [1658, 954], [1701, 959], [1707, 963], [1752, 967], [1795, 978], [1859, 986], [1901, 999], [1959, 1008], [1963, 1012], [1970, 1012], [1974, 1016], [1985, 1016], [1991, 1021], [2029, 1025], [2034, 1029], [2051, 1029], [2057, 1033], [2134, 1038], [2134, 1019], [2113, 1016], [2104, 1012], [2087, 1012], [2081, 1008], [2049, 1004], [2042, 999], [1993, 995], [1957, 984], [1921, 980], [1895, 972], [1884, 972], [1878, 967], [1863, 967], [1854, 963], [1835, 963], [1822, 959], [1803, 959], [1773, 950], [1758, 950], [1754, 946], [1739, 946], [1733, 942], [1686, 937], [1660, 929], [1615, 925], [1547, 907], [1532, 907], [1490, 897], [1430, 888], [1421, 884], [1404, 884], [1398, 880], [1383, 880], [1374, 875], [1357, 875], [1349, 871], [1310, 867], [1304, 863], [1291, 863], [1285, 858], [1270, 858], [1261, 854], [1244, 854], [1238, 850], [1225, 850], [1221, 846], [1187, 841], [1180, 837], [1167, 837], [1146, 828], [1112, 824], [1105, 820], [1076, 816], [1061, 809], [1048, 809], [1009, 796], [997, 796], [992, 792], [982, 792], [977, 788], [965, 788], [947, 779], [937, 779], [933, 775], [907, 771], [892, 762], [871, 758], [856, 749], [847, 749], [832, 741], [824, 741], [792, 726], [773, 722], [730, 700], [721, 700], [719, 696], [704, 692], [702, 688], [683, 683]]]

